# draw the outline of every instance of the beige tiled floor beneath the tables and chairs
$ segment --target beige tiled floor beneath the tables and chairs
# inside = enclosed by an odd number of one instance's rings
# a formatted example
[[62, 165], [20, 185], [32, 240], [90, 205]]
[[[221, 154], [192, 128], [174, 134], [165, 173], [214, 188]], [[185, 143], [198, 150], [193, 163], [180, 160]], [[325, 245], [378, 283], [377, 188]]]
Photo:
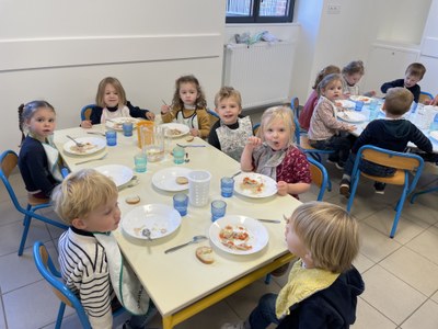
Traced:
[[[337, 193], [341, 172], [326, 164], [334, 191], [324, 200], [345, 206]], [[12, 178], [24, 201], [21, 178]], [[419, 188], [437, 184], [438, 175], [425, 174]], [[366, 283], [357, 308], [354, 328], [438, 328], [438, 203], [437, 193], [406, 204], [394, 239], [389, 238], [394, 201], [400, 190], [388, 186], [384, 195], [373, 193], [372, 183], [361, 183], [353, 214], [360, 220], [361, 249], [355, 265]], [[314, 200], [316, 191], [301, 197]], [[22, 216], [11, 205], [4, 188], [0, 188], [0, 329], [54, 328], [58, 302], [37, 272], [32, 259], [32, 245], [42, 240], [57, 259], [60, 230], [37, 222], [32, 225], [26, 249], [16, 256], [22, 234]], [[204, 310], [177, 329], [220, 328], [226, 321], [244, 319], [266, 292], [278, 292], [286, 275], [269, 285], [256, 282], [217, 305]], [[123, 318], [118, 322], [123, 322]], [[161, 327], [157, 316], [151, 328]], [[67, 310], [62, 328], [79, 328], [76, 314]]]

